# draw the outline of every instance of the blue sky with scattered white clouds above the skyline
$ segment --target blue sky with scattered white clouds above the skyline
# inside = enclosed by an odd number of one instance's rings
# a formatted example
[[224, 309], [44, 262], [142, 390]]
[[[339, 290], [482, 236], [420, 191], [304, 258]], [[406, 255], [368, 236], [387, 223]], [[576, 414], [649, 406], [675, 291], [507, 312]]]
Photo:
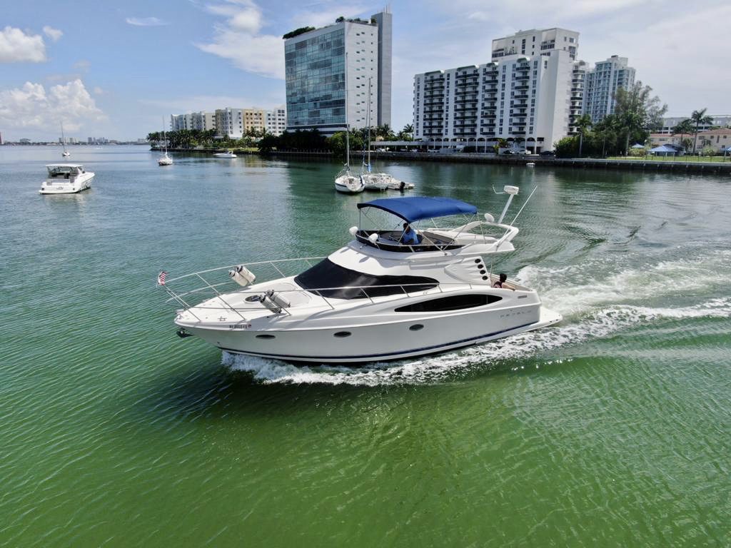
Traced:
[[[6, 140], [136, 139], [163, 116], [284, 104], [281, 35], [385, 4], [293, 0], [2, 1], [0, 132]], [[491, 39], [561, 26], [579, 57], [629, 58], [669, 115], [731, 113], [731, 2], [395, 0], [392, 126], [412, 121], [414, 74], [489, 60]]]

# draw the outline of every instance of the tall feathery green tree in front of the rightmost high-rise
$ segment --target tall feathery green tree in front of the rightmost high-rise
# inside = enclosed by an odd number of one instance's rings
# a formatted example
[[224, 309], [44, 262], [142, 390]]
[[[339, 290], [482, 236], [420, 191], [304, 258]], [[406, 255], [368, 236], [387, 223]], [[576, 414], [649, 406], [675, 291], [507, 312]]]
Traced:
[[667, 112], [667, 104], [661, 104], [658, 96], [653, 96], [652, 88], [639, 80], [628, 89], [618, 88], [614, 99], [614, 114], [617, 129], [624, 134], [624, 153], [629, 149], [629, 140], [645, 142], [650, 130], [661, 126], [662, 116]]

